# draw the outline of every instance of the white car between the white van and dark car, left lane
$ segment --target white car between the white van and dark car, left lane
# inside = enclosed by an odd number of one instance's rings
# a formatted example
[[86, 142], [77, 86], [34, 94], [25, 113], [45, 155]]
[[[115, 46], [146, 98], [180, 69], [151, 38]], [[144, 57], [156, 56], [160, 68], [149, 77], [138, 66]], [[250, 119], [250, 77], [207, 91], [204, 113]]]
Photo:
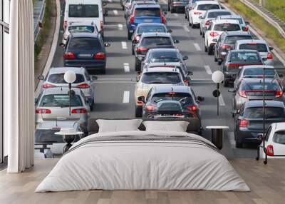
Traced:
[[98, 34], [97, 26], [94, 22], [69, 22], [63, 34], [63, 44], [66, 44], [68, 36], [74, 33]]

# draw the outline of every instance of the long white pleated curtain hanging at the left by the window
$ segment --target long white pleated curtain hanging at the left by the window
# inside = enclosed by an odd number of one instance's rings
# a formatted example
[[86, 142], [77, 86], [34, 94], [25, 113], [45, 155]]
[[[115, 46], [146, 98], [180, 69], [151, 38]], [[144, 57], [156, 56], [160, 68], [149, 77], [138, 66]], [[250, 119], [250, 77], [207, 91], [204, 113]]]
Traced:
[[32, 0], [12, 0], [9, 67], [4, 69], [4, 133], [8, 136], [9, 173], [33, 165], [34, 56]]

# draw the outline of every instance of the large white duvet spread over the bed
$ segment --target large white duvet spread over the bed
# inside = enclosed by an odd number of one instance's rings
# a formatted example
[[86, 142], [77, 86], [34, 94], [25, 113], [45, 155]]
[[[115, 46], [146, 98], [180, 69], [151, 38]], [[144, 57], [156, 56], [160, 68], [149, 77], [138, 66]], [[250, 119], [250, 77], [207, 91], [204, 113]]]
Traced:
[[91, 189], [249, 191], [212, 143], [169, 131], [83, 138], [63, 155], [36, 192]]

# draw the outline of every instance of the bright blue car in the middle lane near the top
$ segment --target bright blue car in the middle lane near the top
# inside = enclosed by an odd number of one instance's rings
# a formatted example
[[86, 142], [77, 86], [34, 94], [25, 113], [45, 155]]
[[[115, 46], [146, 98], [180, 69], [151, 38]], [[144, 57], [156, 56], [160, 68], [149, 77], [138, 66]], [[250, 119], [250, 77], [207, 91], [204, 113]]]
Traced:
[[128, 39], [140, 23], [166, 24], [165, 14], [158, 4], [140, 4], [133, 7], [131, 15], [127, 19]]

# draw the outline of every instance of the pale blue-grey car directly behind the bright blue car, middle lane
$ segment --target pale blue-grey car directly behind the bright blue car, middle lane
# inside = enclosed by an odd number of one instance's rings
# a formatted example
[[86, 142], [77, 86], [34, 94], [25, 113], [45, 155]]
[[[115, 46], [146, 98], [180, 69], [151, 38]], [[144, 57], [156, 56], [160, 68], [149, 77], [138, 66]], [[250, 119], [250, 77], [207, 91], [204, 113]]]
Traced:
[[171, 29], [167, 29], [165, 24], [155, 24], [155, 23], [142, 23], [138, 24], [132, 35], [132, 53], [135, 54], [135, 46], [140, 41], [140, 36], [142, 33], [171, 33]]

